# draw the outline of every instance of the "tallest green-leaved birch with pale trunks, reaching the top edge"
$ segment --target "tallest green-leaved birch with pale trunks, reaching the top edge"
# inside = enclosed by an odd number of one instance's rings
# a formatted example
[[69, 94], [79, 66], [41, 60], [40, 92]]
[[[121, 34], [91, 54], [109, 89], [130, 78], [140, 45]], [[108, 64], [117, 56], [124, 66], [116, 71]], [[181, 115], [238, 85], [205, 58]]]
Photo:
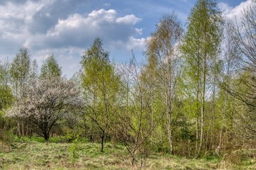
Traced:
[[[183, 84], [185, 95], [188, 96], [186, 110], [189, 115], [194, 115], [196, 121], [196, 148], [199, 149], [197, 156], [203, 149], [205, 137], [206, 115], [214, 115], [210, 108], [215, 108], [216, 103], [213, 97], [213, 105], [208, 105], [208, 91], [216, 91], [216, 74], [218, 69], [218, 55], [221, 49], [223, 35], [223, 18], [214, 0], [198, 0], [191, 9], [188, 18], [187, 33], [182, 44], [184, 55]], [[213, 112], [215, 112], [213, 110]], [[191, 121], [191, 123], [193, 123]], [[208, 127], [210, 128], [210, 127]], [[214, 129], [214, 128], [213, 128]]]

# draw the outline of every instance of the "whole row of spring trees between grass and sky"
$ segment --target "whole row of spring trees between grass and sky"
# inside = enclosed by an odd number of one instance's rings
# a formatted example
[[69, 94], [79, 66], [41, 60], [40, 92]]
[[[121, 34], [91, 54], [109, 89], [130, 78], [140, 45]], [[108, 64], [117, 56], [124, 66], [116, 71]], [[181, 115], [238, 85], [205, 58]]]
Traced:
[[256, 1], [241, 26], [223, 18], [217, 2], [198, 0], [183, 28], [160, 18], [146, 41], [144, 63], [109, 60], [101, 38], [82, 68], [62, 77], [54, 55], [40, 72], [22, 47], [0, 64], [0, 136], [85, 137], [122, 142], [132, 157], [164, 152], [186, 157], [255, 147]]

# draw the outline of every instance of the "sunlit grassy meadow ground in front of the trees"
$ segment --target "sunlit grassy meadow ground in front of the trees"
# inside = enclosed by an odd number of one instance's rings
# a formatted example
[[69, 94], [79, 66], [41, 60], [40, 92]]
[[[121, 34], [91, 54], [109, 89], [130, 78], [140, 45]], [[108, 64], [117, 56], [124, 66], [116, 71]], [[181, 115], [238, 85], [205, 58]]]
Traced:
[[[26, 145], [24, 145], [26, 143]], [[22, 146], [22, 147], [20, 147]], [[14, 142], [11, 150], [0, 149], [0, 169], [138, 169], [130, 165], [123, 145], [91, 142], [65, 143], [52, 139], [45, 143], [40, 137]], [[75, 156], [75, 157], [74, 157]], [[140, 162], [138, 163], [140, 165]], [[143, 169], [256, 169], [254, 158], [234, 164], [223, 158], [186, 159], [169, 154], [150, 154], [143, 160]]]

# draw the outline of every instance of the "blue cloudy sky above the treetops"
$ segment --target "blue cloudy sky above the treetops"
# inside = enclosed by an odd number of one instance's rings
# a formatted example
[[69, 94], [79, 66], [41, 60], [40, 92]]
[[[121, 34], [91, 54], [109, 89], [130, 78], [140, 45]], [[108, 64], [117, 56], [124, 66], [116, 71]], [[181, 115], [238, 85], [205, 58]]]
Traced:
[[[252, 0], [219, 0], [225, 18], [235, 20]], [[165, 13], [174, 11], [185, 27], [196, 0], [0, 0], [0, 62], [28, 47], [39, 67], [54, 54], [67, 77], [96, 37], [113, 62], [144, 60], [145, 40]]]

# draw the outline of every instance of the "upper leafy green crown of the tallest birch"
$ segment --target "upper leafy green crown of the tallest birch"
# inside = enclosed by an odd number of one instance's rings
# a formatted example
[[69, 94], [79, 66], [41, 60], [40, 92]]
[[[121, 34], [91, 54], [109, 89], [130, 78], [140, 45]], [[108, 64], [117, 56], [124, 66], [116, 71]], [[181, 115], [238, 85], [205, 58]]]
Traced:
[[[203, 76], [209, 73], [211, 65], [220, 52], [223, 18], [216, 1], [199, 0], [188, 18], [187, 33], [182, 52], [185, 57], [185, 72], [189, 81], [196, 86]], [[202, 83], [202, 82], [200, 82]]]

